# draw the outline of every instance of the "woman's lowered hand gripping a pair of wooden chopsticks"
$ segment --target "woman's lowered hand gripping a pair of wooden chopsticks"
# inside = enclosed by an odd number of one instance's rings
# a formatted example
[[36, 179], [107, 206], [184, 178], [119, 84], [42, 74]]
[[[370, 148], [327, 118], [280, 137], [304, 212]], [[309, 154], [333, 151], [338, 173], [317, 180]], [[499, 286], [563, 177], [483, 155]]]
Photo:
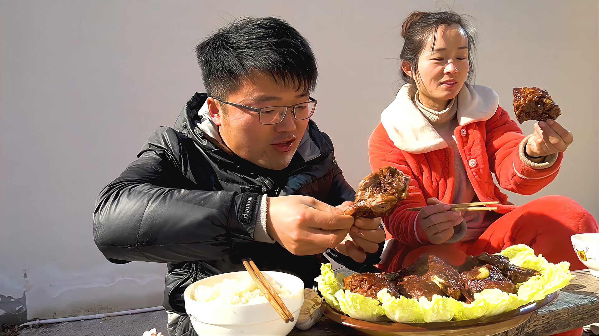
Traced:
[[432, 244], [445, 243], [453, 236], [453, 226], [464, 220], [461, 211], [451, 211], [449, 204], [441, 203], [436, 198], [426, 201], [428, 207], [418, 213], [420, 228]]

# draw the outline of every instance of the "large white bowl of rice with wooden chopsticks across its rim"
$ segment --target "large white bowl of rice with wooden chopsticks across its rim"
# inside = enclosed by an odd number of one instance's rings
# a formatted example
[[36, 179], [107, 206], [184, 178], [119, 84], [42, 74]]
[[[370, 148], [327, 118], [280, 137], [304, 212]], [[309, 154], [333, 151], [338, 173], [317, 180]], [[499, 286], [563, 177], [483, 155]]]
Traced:
[[270, 303], [217, 304], [199, 302], [193, 298], [199, 285], [214, 286], [223, 279], [248, 279], [246, 271], [211, 276], [190, 284], [185, 289], [185, 310], [189, 314], [193, 329], [198, 335], [287, 335], [298, 320], [299, 308], [304, 303], [304, 282], [291, 274], [263, 271], [286, 287], [291, 295], [282, 299], [295, 317], [294, 322], [285, 323]]

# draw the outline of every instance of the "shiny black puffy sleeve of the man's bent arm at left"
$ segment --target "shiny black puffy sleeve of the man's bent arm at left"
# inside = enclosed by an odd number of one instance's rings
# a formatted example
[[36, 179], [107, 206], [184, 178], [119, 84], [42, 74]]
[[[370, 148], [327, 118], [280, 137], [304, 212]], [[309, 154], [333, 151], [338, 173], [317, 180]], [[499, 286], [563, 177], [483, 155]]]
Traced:
[[180, 141], [173, 129], [156, 129], [98, 196], [93, 237], [108, 260], [202, 260], [221, 254], [222, 244], [253, 240], [260, 195], [183, 189], [191, 182], [179, 168]]

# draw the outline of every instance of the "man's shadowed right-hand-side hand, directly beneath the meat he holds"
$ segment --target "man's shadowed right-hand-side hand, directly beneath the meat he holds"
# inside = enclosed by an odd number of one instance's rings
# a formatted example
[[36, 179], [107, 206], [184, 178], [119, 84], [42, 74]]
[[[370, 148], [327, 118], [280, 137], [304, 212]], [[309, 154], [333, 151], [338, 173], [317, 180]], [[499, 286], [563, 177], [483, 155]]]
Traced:
[[[337, 208], [345, 210], [350, 204], [352, 202], [344, 202]], [[335, 250], [357, 262], [363, 262], [366, 259], [366, 252], [377, 252], [379, 243], [383, 241], [385, 241], [385, 231], [380, 228], [380, 218], [356, 218], [349, 234], [335, 247]]]

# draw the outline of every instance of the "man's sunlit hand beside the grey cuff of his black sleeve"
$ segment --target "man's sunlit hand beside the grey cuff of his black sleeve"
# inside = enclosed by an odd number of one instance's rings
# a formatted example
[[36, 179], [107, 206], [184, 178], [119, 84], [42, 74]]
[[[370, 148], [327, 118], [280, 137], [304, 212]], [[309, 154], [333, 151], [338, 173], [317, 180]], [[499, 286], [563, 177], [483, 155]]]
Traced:
[[311, 197], [268, 198], [267, 233], [294, 255], [315, 255], [338, 246], [352, 225], [353, 217]]

